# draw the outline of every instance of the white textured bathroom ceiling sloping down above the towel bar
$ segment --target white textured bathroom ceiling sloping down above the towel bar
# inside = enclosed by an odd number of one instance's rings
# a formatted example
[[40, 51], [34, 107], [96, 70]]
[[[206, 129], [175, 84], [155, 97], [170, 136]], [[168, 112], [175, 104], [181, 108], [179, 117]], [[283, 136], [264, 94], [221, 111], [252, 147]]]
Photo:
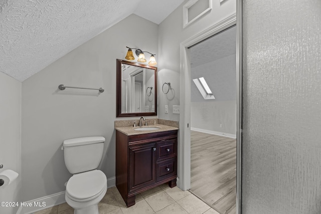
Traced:
[[130, 14], [159, 24], [184, 0], [172, 2], [1, 0], [0, 71], [24, 81]]

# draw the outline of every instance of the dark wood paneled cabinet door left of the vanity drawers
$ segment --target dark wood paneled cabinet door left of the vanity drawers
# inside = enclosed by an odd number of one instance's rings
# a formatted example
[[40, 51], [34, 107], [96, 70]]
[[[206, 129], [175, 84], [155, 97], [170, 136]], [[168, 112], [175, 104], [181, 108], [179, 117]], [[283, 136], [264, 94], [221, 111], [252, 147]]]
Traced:
[[129, 147], [129, 192], [155, 183], [155, 143]]

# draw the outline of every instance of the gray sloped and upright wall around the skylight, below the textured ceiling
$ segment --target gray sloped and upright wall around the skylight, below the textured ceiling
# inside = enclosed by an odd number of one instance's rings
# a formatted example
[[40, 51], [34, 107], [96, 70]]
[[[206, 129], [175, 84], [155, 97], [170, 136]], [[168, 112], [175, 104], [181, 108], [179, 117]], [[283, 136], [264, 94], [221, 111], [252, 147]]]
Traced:
[[[199, 77], [205, 78], [215, 99], [203, 98], [193, 82]], [[191, 127], [236, 137], [235, 54], [191, 68]]]

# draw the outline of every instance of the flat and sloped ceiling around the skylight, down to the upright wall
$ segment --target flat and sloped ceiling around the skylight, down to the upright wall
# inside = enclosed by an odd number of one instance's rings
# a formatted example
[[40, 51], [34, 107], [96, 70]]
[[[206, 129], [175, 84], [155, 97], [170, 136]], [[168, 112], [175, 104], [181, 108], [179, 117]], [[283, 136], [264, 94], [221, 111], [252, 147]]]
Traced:
[[[191, 79], [204, 77], [215, 100], [204, 100], [191, 82], [192, 102], [236, 99], [236, 27], [231, 27], [190, 48]], [[230, 57], [228, 57], [230, 56]]]

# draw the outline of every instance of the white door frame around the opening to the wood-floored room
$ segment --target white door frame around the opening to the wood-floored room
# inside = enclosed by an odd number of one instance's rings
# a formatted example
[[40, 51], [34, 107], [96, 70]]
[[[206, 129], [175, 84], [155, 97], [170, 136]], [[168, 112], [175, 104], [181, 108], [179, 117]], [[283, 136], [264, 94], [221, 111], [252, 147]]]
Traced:
[[[239, 7], [239, 6], [238, 6]], [[191, 37], [180, 44], [181, 55], [181, 114], [180, 114], [180, 141], [179, 141], [179, 179], [178, 186], [183, 190], [191, 188], [191, 62], [189, 55], [189, 47], [231, 27], [236, 25], [236, 73], [237, 73], [237, 185], [236, 185], [236, 213], [240, 213], [240, 196], [241, 196], [241, 67], [240, 67], [240, 14], [238, 18], [236, 13], [228, 16], [220, 22], [214, 24], [203, 32]]]

